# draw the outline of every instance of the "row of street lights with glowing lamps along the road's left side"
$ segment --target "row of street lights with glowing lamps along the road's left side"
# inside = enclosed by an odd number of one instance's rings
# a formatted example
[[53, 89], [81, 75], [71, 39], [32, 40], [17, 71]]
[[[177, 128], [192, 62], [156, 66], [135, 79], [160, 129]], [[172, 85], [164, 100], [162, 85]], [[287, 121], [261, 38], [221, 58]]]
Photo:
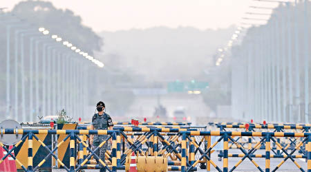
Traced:
[[88, 75], [104, 63], [45, 28], [6, 13], [0, 17], [6, 28], [6, 118], [32, 122], [62, 109], [83, 116]]

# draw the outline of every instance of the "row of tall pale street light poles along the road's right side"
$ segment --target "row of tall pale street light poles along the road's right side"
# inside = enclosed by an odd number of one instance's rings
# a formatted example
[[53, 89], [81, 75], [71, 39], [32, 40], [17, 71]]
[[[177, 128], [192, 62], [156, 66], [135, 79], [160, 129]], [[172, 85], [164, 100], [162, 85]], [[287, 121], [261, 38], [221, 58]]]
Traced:
[[[303, 3], [303, 46], [299, 46], [297, 1], [294, 7], [294, 27], [290, 25], [293, 22], [290, 2], [264, 1], [285, 3], [285, 6], [281, 7], [281, 15], [272, 14], [267, 25], [252, 28], [249, 32], [256, 36], [245, 38], [243, 47], [247, 48], [236, 49], [232, 56], [236, 58], [232, 61], [232, 114], [236, 118], [308, 123], [308, 1]], [[252, 8], [272, 10], [254, 6]], [[255, 12], [249, 14], [268, 15]], [[300, 63], [299, 54], [302, 54], [303, 65]], [[304, 76], [303, 79], [301, 75]], [[303, 95], [301, 83], [304, 83]], [[304, 101], [301, 103], [303, 97]]]

